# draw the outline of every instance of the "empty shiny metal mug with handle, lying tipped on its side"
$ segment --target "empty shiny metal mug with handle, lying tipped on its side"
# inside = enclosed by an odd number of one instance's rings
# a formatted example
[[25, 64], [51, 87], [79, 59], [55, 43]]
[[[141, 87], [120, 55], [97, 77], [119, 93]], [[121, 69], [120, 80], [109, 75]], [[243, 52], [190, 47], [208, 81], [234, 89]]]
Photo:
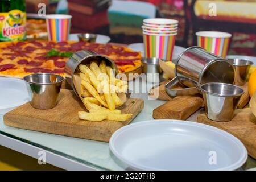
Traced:
[[[171, 97], [188, 96], [200, 93], [200, 85], [209, 82], [233, 84], [235, 69], [229, 60], [207, 52], [204, 48], [193, 46], [185, 49], [175, 64], [176, 77], [165, 87]], [[173, 89], [176, 84], [188, 86]]]

